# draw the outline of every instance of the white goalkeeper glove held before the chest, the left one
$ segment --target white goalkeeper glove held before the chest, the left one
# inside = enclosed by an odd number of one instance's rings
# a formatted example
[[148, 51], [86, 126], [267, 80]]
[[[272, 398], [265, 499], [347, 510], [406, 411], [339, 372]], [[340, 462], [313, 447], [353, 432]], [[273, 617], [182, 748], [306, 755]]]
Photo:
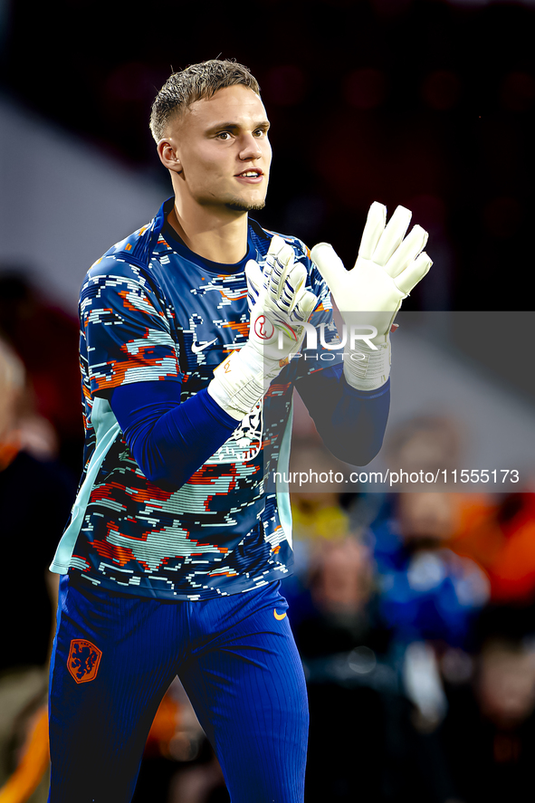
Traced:
[[296, 353], [304, 338], [303, 324], [318, 303], [305, 290], [307, 272], [294, 263], [291, 245], [273, 236], [264, 272], [253, 260], [245, 266], [251, 311], [249, 339], [214, 371], [208, 393], [230, 416], [241, 421], [263, 397]]

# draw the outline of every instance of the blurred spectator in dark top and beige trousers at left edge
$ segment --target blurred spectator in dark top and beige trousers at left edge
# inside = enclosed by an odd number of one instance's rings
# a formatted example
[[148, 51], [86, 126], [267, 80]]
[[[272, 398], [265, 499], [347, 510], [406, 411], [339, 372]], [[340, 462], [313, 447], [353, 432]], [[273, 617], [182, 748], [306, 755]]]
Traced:
[[[41, 427], [41, 418], [25, 395], [21, 360], [0, 340], [0, 530], [5, 565], [0, 588], [4, 612], [0, 785], [15, 770], [34, 726], [39, 738], [38, 743], [30, 739], [33, 757], [42, 760], [43, 750], [45, 756], [47, 750], [46, 728], [41, 725], [57, 594], [48, 566], [75, 493], [75, 482], [62, 464], [42, 459], [45, 454], [50, 456], [53, 445], [49, 427], [52, 429], [51, 425]], [[24, 765], [24, 781], [29, 772], [36, 771], [31, 780], [37, 784], [45, 766], [46, 762], [37, 766], [30, 760]]]

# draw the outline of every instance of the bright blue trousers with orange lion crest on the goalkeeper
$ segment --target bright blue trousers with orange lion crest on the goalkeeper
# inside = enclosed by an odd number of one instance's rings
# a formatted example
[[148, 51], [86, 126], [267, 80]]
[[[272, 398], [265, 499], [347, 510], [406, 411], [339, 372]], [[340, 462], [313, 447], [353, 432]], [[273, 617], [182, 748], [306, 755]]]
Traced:
[[199, 602], [61, 580], [51, 660], [49, 803], [129, 803], [179, 676], [232, 803], [302, 803], [308, 703], [280, 583]]

